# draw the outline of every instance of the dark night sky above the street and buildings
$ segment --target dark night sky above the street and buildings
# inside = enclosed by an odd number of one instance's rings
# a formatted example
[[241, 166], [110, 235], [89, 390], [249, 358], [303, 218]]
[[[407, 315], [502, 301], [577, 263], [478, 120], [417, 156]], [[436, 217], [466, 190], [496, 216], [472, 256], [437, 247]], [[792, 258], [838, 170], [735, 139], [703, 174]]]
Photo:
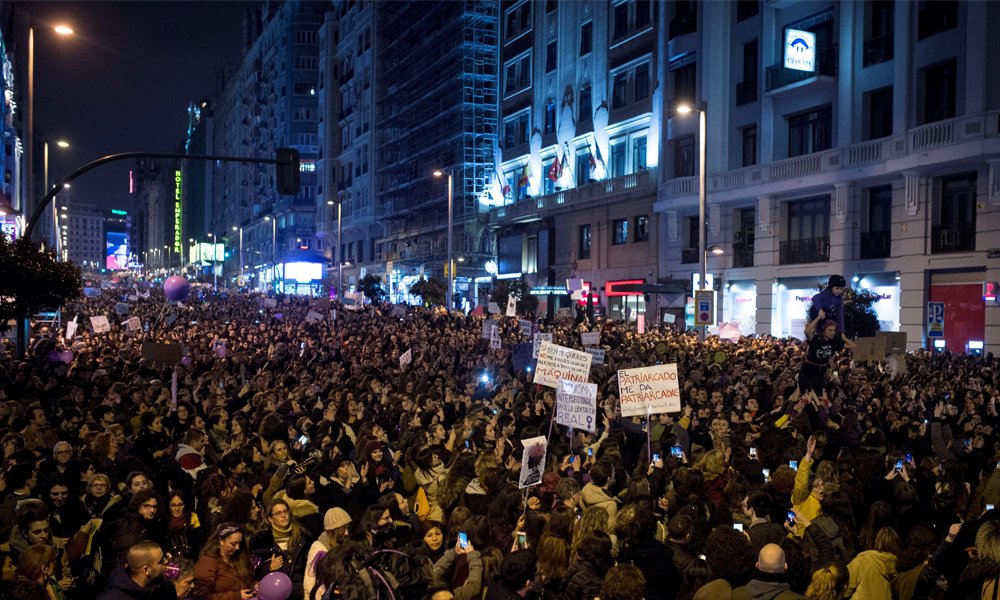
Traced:
[[[49, 145], [49, 180], [118, 152], [178, 152], [192, 100], [213, 97], [219, 72], [241, 57], [242, 13], [255, 2], [26, 2], [35, 23], [35, 132]], [[60, 37], [66, 23], [76, 34]], [[46, 28], [46, 25], [50, 26]], [[16, 58], [27, 62], [26, 45]], [[26, 82], [18, 82], [26, 85]], [[41, 148], [37, 151], [41, 153]], [[134, 209], [122, 161], [69, 191], [103, 208]]]

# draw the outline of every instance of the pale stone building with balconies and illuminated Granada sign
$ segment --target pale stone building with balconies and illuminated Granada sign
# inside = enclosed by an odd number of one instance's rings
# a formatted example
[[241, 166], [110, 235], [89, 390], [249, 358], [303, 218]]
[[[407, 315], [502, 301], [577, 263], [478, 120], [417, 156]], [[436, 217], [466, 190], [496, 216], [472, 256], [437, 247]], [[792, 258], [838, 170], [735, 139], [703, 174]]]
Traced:
[[[719, 321], [801, 336], [817, 285], [839, 273], [878, 295], [882, 328], [906, 332], [911, 349], [997, 349], [1000, 313], [983, 290], [1000, 279], [1000, 83], [987, 34], [998, 8], [671, 3], [667, 96], [708, 115]], [[699, 259], [698, 126], [673, 102], [655, 209], [661, 268], [687, 280]]]

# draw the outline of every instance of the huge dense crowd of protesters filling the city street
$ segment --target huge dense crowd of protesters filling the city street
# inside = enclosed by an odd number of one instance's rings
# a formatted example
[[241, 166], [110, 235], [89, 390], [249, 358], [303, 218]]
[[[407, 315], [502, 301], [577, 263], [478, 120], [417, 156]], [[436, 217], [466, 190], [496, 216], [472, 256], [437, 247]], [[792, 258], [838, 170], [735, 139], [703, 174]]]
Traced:
[[[75, 301], [74, 336], [0, 353], [0, 595], [996, 598], [992, 356], [852, 362], [819, 315], [833, 356], [522, 315], [561, 346], [600, 333], [587, 431], [515, 368], [522, 323], [488, 316], [499, 348], [418, 307], [131, 281]], [[623, 417], [618, 370], [666, 363], [681, 410]]]

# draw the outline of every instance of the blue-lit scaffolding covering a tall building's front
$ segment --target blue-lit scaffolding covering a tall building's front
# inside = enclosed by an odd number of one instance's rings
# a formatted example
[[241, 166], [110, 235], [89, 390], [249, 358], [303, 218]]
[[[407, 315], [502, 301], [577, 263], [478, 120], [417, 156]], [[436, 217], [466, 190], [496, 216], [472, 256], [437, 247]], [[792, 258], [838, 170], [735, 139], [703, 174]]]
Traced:
[[[446, 187], [454, 179], [454, 252], [481, 251], [479, 198], [497, 135], [498, 3], [383, 2], [376, 12], [376, 215], [383, 242], [413, 242], [397, 264], [443, 269]], [[402, 245], [402, 244], [400, 244]]]

